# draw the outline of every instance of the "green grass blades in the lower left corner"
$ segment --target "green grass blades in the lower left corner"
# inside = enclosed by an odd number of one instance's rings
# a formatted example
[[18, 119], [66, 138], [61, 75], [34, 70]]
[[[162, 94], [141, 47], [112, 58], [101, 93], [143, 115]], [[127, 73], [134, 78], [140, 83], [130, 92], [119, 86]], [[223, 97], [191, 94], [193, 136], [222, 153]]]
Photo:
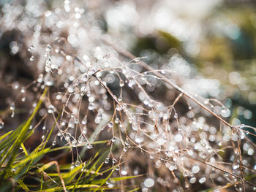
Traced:
[[[0, 169], [0, 191], [105, 191], [115, 190], [117, 187], [109, 188], [106, 183], [118, 182], [139, 177], [111, 177], [116, 166], [103, 168], [106, 153], [99, 152], [86, 163], [75, 167], [59, 165], [57, 161], [48, 164], [40, 163], [40, 160], [50, 152], [59, 150], [70, 150], [70, 146], [46, 147], [50, 139], [49, 131], [46, 139], [30, 153], [23, 145], [26, 139], [33, 137], [34, 129], [31, 121], [35, 118], [47, 89], [42, 93], [41, 99], [34, 108], [30, 118], [21, 124], [15, 131], [10, 131], [0, 137], [1, 169]], [[53, 127], [54, 128], [54, 127]], [[106, 141], [92, 142], [92, 144], [104, 144]], [[20, 150], [22, 152], [20, 153]], [[122, 186], [126, 188], [125, 186]], [[121, 187], [119, 187], [121, 188]], [[135, 188], [126, 188], [133, 191]]]

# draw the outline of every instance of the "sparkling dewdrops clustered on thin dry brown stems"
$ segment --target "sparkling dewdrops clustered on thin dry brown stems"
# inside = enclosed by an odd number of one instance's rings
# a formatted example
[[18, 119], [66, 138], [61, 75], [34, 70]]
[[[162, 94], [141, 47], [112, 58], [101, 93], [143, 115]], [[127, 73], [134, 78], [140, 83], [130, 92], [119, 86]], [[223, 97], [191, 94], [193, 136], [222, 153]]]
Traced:
[[[58, 142], [66, 142], [72, 147], [86, 146], [91, 150], [99, 136], [105, 137], [104, 139], [109, 140], [111, 149], [113, 145], [121, 146], [118, 154], [110, 150], [105, 164], [112, 164], [122, 175], [128, 174], [127, 167], [119, 166], [123, 156], [136, 147], [149, 155], [156, 169], [165, 166], [173, 175], [173, 183], [178, 183], [177, 172], [183, 174], [185, 188], [197, 182], [210, 183], [210, 177], [221, 183], [237, 183], [238, 178], [228, 172], [241, 175], [241, 165], [255, 172], [256, 165], [252, 158], [255, 151], [246, 137], [248, 131], [244, 131], [242, 127], [231, 130], [220, 124], [208, 124], [211, 114], [172, 89], [172, 101], [159, 101], [151, 95], [160, 86], [170, 88], [170, 85], [154, 73], [159, 72], [173, 82], [177, 80], [184, 90], [195, 93], [193, 96], [208, 109], [226, 118], [230, 116], [227, 107], [216, 99], [203, 99], [205, 96], [218, 96], [217, 80], [206, 80], [203, 77], [192, 79], [191, 67], [178, 54], [173, 55], [167, 64], [159, 69], [155, 67], [151, 72], [140, 66], [142, 58], [123, 58], [120, 61], [120, 55], [113, 47], [98, 40], [102, 37], [102, 30], [93, 22], [96, 20], [93, 12], [72, 7], [67, 0], [64, 1], [64, 9], [56, 7], [44, 12], [37, 9], [40, 3], [28, 2], [25, 8], [17, 4], [4, 6], [4, 27], [1, 33], [17, 28], [24, 34], [31, 34], [31, 39], [27, 42], [28, 62], [36, 65], [41, 72], [34, 86], [41, 90], [45, 87], [59, 88], [55, 93], [50, 93], [51, 97], [45, 101], [46, 109], [39, 111], [42, 117], [56, 118], [59, 115], [56, 125], [58, 132], [53, 139], [53, 146]], [[33, 7], [36, 8], [32, 9]], [[14, 8], [17, 12], [10, 17], [10, 10]], [[23, 8], [26, 9], [24, 13], [20, 11]], [[26, 23], [24, 18], [19, 17], [20, 14], [34, 15], [34, 18]], [[88, 19], [81, 20], [83, 17]], [[8, 22], [17, 25], [13, 26]], [[26, 25], [33, 29], [26, 28]], [[54, 33], [48, 34], [44, 28]], [[62, 33], [66, 33], [67, 38], [61, 37]], [[49, 36], [52, 39], [50, 42], [45, 40]], [[42, 45], [42, 42], [45, 44]], [[18, 42], [10, 44], [13, 55], [22, 49], [23, 45]], [[20, 88], [18, 82], [13, 82], [12, 88], [20, 89], [18, 98], [25, 102], [26, 89], [29, 87]], [[131, 91], [135, 94], [135, 101], [129, 96]], [[187, 111], [182, 114], [178, 111], [179, 102], [187, 105]], [[11, 116], [15, 117], [15, 102], [10, 104], [10, 111]], [[47, 119], [45, 118], [45, 126], [42, 126], [44, 133]], [[0, 128], [3, 127], [4, 121], [1, 120]], [[105, 134], [109, 132], [111, 134]], [[42, 139], [45, 139], [45, 135], [42, 135]], [[236, 147], [230, 151], [231, 155], [227, 160], [230, 169], [223, 174], [214, 166], [218, 166], [217, 162], [222, 162], [219, 155], [223, 151], [222, 147], [229, 147], [233, 142]], [[237, 142], [241, 143], [243, 154], [239, 152]], [[240, 155], [244, 158], [239, 158]], [[214, 166], [206, 166], [196, 159]], [[82, 163], [78, 156], [71, 168]], [[253, 173], [249, 169], [244, 169], [244, 173]], [[134, 174], [138, 174], [138, 171]], [[142, 184], [142, 190], [148, 191], [156, 182], [170, 185], [162, 177], [148, 177]], [[113, 180], [108, 180], [106, 184], [109, 187], [115, 186]], [[235, 184], [235, 187], [241, 191], [241, 183]]]

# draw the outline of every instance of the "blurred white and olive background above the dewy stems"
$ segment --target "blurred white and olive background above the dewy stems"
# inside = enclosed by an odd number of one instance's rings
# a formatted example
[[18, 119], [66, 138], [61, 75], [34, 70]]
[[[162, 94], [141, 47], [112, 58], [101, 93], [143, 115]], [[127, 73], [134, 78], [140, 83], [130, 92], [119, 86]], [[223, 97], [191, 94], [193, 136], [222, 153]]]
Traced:
[[220, 93], [206, 97], [229, 98], [230, 123], [253, 126], [255, 6], [255, 1], [112, 1], [102, 27], [135, 55], [148, 56], [148, 63], [178, 53], [198, 74], [217, 80]]

